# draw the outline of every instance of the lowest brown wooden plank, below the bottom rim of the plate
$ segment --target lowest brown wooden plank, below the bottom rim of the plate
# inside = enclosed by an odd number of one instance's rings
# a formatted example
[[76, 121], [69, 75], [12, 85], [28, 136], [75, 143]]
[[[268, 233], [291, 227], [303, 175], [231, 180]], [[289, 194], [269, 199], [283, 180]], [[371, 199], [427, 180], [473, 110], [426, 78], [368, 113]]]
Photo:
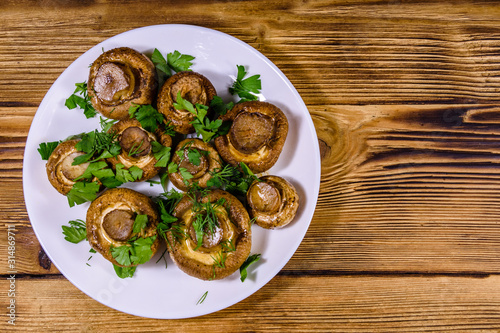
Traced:
[[[20, 332], [428, 332], [500, 329], [500, 277], [278, 276], [242, 302], [182, 320], [139, 318], [110, 309], [65, 279], [15, 280]], [[9, 281], [0, 302], [9, 304]], [[168, 297], [168, 295], [158, 295]], [[205, 302], [211, 302], [207, 295]], [[223, 295], [220, 295], [223, 297]], [[138, 304], [140, 306], [140, 304]], [[251, 309], [251, 311], [249, 311]], [[6, 311], [4, 309], [4, 311]], [[0, 327], [1, 327], [0, 326]]]

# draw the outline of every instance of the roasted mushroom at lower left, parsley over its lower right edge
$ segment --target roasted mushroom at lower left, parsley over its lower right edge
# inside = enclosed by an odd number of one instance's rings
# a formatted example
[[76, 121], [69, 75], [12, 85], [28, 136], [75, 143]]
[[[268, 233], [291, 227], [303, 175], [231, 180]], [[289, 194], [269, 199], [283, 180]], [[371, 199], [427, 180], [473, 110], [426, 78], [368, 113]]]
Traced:
[[[147, 215], [147, 224], [139, 232], [133, 231], [138, 215]], [[114, 188], [105, 191], [92, 201], [87, 211], [87, 239], [90, 246], [104, 258], [120, 267], [113, 257], [112, 249], [123, 245], [129, 246], [134, 238], [154, 237], [151, 245], [151, 257], [160, 244], [156, 236], [159, 218], [154, 202], [146, 195], [127, 188]]]

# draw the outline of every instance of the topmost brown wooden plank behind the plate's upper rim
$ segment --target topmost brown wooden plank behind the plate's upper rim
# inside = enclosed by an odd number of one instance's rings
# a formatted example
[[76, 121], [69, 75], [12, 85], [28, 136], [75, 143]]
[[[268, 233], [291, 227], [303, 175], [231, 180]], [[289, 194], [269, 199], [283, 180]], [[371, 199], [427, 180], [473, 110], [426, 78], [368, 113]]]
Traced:
[[29, 15], [22, 4], [2, 8], [4, 103], [38, 105], [60, 73], [90, 47], [129, 29], [164, 23], [216, 28], [249, 43], [285, 72], [308, 105], [499, 101], [495, 1], [480, 6], [470, 1], [177, 6], [102, 1], [57, 2], [57, 10], [51, 2], [41, 4]]

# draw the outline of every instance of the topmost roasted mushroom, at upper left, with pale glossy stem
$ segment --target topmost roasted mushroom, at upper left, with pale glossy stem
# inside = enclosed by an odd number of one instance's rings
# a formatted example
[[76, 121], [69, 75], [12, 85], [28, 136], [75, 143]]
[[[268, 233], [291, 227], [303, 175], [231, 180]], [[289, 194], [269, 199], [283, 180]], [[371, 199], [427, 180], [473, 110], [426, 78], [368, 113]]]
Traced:
[[133, 104], [152, 104], [158, 82], [144, 54], [120, 47], [101, 54], [90, 67], [87, 93], [94, 108], [112, 119], [127, 119]]

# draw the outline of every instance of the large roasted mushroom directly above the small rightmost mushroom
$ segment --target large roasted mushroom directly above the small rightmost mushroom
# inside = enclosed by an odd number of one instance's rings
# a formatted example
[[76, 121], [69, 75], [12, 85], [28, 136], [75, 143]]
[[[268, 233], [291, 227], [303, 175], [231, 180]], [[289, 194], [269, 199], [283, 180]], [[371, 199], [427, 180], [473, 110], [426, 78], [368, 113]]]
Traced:
[[288, 133], [288, 121], [278, 107], [260, 101], [242, 102], [219, 118], [232, 121], [229, 133], [215, 139], [224, 161], [234, 166], [244, 162], [255, 173], [276, 163]]

